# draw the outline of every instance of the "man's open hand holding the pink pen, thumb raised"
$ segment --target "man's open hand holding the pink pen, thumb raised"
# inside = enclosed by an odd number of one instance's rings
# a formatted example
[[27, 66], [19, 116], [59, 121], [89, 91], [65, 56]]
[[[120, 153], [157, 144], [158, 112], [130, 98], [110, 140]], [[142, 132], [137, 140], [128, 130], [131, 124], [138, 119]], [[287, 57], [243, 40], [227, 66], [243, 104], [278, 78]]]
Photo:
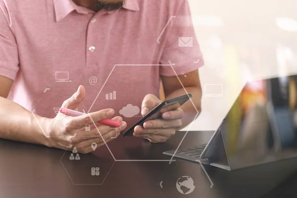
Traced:
[[[77, 110], [78, 105], [85, 99], [85, 88], [80, 86], [77, 92], [69, 99], [65, 100], [61, 107]], [[126, 128], [127, 123], [119, 116], [112, 118], [121, 122], [118, 128], [112, 128], [106, 125], [96, 124], [100, 120], [108, 118], [114, 114], [111, 108], [103, 109], [93, 113], [71, 117], [58, 113], [55, 118], [45, 118], [45, 133], [48, 136], [47, 146], [68, 149], [76, 147], [80, 153], [93, 151], [92, 143], [97, 143], [97, 147], [110, 142], [118, 137], [120, 132]], [[91, 125], [91, 131], [86, 131], [86, 125]], [[98, 129], [98, 130], [97, 130]], [[100, 133], [99, 133], [99, 132]]]

